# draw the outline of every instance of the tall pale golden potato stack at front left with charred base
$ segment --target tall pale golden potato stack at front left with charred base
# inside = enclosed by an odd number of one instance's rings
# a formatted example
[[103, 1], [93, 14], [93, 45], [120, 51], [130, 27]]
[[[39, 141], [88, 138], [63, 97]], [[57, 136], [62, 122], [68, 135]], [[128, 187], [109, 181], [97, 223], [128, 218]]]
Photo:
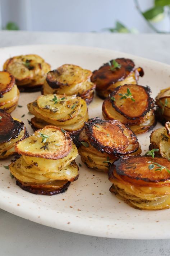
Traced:
[[19, 142], [15, 150], [21, 154], [10, 164], [23, 190], [35, 194], [63, 193], [70, 181], [77, 180], [78, 166], [74, 159], [78, 152], [69, 134], [55, 126], [46, 126]]

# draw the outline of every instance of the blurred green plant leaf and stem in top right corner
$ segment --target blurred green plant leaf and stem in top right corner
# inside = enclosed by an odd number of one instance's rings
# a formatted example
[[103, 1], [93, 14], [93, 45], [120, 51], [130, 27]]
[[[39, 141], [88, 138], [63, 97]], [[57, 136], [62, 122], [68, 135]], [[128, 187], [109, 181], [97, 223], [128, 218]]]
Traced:
[[142, 12], [138, 0], [134, 0], [134, 2], [138, 12], [143, 16], [148, 26], [150, 26], [153, 31], [157, 33], [170, 33], [170, 31], [165, 32], [158, 30], [153, 25], [154, 22], [161, 21], [165, 16], [169, 16], [170, 18], [170, 0], [154, 0], [154, 6], [145, 12]]

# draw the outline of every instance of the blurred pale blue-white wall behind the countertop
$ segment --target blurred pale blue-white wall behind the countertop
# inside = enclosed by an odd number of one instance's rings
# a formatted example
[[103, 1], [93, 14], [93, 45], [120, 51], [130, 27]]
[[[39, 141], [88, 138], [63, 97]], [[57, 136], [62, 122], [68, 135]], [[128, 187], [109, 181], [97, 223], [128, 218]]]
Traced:
[[[153, 0], [139, 3], [146, 10]], [[99, 32], [119, 20], [128, 28], [151, 32], [134, 0], [0, 0], [0, 5], [2, 27], [14, 21], [21, 30]], [[165, 20], [161, 26], [169, 25]]]

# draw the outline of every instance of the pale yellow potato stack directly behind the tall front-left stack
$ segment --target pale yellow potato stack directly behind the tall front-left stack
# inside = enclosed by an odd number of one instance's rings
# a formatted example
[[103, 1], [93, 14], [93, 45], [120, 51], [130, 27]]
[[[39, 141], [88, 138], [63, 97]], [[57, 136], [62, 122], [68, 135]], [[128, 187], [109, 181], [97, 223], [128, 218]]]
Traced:
[[42, 95], [27, 106], [29, 112], [35, 115], [35, 118], [31, 119], [35, 129], [52, 124], [74, 136], [81, 131], [84, 121], [88, 120], [86, 101], [76, 96]]

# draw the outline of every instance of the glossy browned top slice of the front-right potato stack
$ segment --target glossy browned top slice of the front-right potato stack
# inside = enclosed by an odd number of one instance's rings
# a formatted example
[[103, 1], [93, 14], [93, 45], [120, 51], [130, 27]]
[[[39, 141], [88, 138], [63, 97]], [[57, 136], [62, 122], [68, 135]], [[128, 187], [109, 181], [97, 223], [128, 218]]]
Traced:
[[127, 176], [137, 181], [160, 182], [170, 179], [170, 162], [165, 158], [150, 156], [131, 156], [116, 160], [109, 169], [109, 179], [114, 178], [114, 171], [120, 176]]

